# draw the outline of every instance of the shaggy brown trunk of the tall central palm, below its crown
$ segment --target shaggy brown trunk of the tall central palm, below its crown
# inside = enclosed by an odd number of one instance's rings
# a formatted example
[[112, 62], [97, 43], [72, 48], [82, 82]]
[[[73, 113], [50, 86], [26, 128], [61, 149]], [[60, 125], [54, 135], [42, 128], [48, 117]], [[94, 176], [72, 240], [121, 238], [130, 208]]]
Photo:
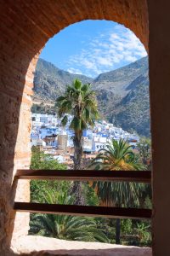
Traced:
[[[80, 170], [82, 164], [82, 133], [75, 133], [74, 143], [74, 170]], [[85, 203], [82, 195], [82, 182], [74, 182], [71, 194], [75, 196], [75, 204], [82, 206]]]

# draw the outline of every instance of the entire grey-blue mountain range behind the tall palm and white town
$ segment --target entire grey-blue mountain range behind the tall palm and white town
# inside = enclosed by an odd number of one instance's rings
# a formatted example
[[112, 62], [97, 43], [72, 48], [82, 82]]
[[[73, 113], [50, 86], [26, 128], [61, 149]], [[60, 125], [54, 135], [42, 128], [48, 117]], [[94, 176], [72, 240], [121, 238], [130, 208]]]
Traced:
[[99, 102], [99, 112], [125, 131], [136, 131], [150, 137], [150, 99], [148, 58], [125, 67], [101, 73], [96, 79], [72, 74], [39, 59], [34, 78], [34, 102], [53, 102], [73, 79], [93, 84]]

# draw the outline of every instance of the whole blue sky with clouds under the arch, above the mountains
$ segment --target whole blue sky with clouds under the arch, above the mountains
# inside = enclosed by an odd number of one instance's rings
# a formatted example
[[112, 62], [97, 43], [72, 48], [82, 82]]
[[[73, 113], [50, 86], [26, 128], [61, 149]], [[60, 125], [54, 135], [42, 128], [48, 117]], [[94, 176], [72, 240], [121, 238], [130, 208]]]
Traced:
[[96, 78], [146, 56], [133, 32], [113, 21], [84, 20], [48, 40], [40, 57], [70, 73]]

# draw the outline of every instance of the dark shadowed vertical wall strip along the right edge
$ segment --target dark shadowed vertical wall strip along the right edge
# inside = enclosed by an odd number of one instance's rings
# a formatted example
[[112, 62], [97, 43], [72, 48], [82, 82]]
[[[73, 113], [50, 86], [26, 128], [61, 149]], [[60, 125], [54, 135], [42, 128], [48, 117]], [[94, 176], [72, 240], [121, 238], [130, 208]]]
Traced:
[[148, 1], [153, 148], [153, 250], [170, 255], [170, 1]]

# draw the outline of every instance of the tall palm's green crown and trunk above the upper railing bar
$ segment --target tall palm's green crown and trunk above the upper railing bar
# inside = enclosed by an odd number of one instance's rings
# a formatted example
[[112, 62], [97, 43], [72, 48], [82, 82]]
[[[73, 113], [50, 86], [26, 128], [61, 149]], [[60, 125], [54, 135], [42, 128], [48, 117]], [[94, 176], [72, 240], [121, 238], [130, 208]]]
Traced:
[[75, 79], [71, 85], [68, 85], [65, 94], [57, 99], [59, 118], [62, 118], [61, 124], [65, 126], [68, 122], [68, 114], [71, 114], [72, 120], [70, 128], [74, 131], [74, 169], [81, 168], [82, 161], [82, 131], [88, 128], [88, 125], [94, 125], [94, 119], [99, 116], [97, 102], [94, 90], [90, 89], [90, 84], [82, 84]]

